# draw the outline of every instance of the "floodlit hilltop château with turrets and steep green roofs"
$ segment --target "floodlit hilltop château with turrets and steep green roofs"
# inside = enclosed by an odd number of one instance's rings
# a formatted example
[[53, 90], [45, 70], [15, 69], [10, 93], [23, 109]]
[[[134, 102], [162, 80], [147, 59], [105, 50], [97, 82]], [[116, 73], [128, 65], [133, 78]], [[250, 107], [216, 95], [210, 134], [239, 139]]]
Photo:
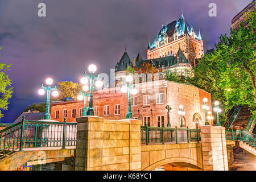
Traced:
[[122, 80], [128, 66], [141, 67], [150, 63], [158, 70], [158, 78], [166, 77], [166, 73], [176, 72], [179, 76], [188, 76], [192, 67], [196, 67], [196, 59], [204, 55], [204, 44], [201, 33], [196, 34], [193, 26], [189, 26], [184, 15], [173, 22], [163, 25], [154, 42], [148, 42], [147, 60], [143, 60], [139, 52], [130, 60], [125, 51], [121, 60], [115, 65], [115, 82]]

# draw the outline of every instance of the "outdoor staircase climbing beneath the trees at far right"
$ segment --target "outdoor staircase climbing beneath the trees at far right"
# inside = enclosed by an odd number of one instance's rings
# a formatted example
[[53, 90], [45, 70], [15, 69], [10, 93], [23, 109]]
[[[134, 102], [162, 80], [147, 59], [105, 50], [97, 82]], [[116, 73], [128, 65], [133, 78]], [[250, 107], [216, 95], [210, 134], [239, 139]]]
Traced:
[[226, 123], [226, 130], [246, 130], [250, 121], [251, 113], [247, 106], [238, 105]]

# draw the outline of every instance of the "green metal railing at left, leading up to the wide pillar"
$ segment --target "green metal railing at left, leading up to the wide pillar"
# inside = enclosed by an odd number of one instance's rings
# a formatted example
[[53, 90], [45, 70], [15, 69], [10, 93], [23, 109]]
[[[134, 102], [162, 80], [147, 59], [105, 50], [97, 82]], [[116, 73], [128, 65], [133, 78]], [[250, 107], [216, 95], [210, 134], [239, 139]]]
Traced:
[[76, 146], [77, 123], [26, 121], [0, 131], [0, 159], [23, 148]]

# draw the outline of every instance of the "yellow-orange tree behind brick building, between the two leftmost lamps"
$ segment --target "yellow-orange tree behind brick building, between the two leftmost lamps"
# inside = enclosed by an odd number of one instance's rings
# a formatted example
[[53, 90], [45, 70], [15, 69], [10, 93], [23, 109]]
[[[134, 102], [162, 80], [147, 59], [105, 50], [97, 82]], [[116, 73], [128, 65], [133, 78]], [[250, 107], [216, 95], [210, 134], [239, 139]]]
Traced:
[[61, 81], [58, 83], [58, 90], [60, 92], [58, 100], [62, 100], [64, 97], [76, 100], [80, 90], [82, 90], [82, 86], [72, 81]]

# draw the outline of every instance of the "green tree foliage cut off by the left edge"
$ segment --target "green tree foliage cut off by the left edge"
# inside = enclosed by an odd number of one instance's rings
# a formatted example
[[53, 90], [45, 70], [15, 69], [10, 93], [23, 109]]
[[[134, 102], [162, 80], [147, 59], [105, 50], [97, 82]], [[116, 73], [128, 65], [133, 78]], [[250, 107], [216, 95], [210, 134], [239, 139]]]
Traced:
[[[0, 47], [2, 49], [2, 47]], [[11, 80], [9, 75], [6, 75], [7, 71], [10, 71], [11, 64], [0, 63], [0, 109], [8, 109], [8, 100], [13, 94], [13, 87], [11, 87]], [[0, 110], [0, 119], [3, 117], [3, 114]]]

